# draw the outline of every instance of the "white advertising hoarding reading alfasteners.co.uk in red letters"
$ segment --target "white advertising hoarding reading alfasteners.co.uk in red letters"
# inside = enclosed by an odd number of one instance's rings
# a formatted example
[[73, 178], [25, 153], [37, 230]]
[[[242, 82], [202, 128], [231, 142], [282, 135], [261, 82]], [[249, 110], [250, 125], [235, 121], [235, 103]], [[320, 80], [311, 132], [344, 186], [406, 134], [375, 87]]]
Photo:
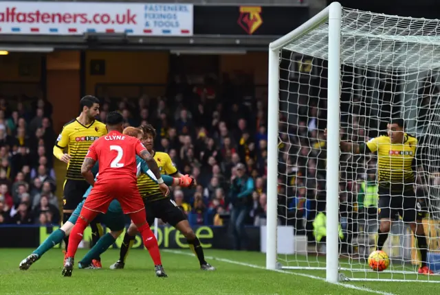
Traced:
[[0, 2], [0, 34], [192, 36], [192, 4]]

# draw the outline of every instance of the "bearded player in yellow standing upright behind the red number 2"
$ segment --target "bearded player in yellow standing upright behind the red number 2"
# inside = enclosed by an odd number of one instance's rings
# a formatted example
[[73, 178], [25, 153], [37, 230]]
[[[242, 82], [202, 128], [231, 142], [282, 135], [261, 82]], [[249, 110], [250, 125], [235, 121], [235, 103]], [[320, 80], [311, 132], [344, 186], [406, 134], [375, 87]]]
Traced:
[[[98, 98], [86, 95], [80, 101], [81, 113], [79, 117], [65, 124], [56, 139], [54, 156], [67, 163], [67, 174], [63, 193], [63, 223], [69, 220], [70, 215], [78, 204], [83, 201], [84, 193], [89, 189], [89, 183], [81, 175], [81, 165], [89, 147], [96, 139], [107, 134], [105, 124], [96, 121], [99, 115]], [[67, 153], [64, 152], [67, 147]], [[102, 235], [102, 228], [96, 223], [91, 224], [93, 242], [96, 243]], [[64, 239], [66, 249], [69, 241]], [[96, 261], [97, 267], [100, 262]]]

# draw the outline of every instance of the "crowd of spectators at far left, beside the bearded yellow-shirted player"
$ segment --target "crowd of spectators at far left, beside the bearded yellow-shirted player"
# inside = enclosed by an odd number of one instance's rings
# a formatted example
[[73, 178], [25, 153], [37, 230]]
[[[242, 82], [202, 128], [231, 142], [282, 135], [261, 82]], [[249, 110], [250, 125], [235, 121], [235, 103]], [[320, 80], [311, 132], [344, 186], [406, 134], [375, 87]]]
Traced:
[[0, 97], [0, 224], [59, 224], [52, 105]]

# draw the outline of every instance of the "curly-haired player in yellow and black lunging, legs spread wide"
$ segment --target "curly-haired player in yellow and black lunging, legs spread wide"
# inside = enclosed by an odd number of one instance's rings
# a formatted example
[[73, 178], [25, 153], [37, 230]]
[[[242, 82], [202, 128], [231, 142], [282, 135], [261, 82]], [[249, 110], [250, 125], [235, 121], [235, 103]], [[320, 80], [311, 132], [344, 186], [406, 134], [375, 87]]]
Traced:
[[[153, 150], [153, 140], [156, 137], [156, 130], [150, 124], [141, 126], [144, 132], [144, 138], [142, 143], [144, 143], [148, 152], [150, 152], [157, 166], [161, 170], [162, 174], [166, 174], [174, 177], [183, 176], [177, 171], [177, 168], [171, 161], [168, 154], [164, 152], [155, 152]], [[205, 256], [203, 254], [203, 248], [201, 247], [200, 241], [195, 235], [194, 231], [186, 219], [186, 215], [177, 204], [169, 196], [163, 196], [160, 193], [157, 183], [155, 183], [148, 176], [140, 175], [137, 178], [137, 187], [141, 196], [144, 198], [146, 219], [148, 224], [153, 225], [155, 218], [162, 219], [163, 222], [167, 222], [171, 226], [174, 226], [178, 231], [180, 231], [188, 241], [188, 245], [192, 252], [195, 253], [197, 259], [199, 259], [201, 270], [215, 270], [209, 263], [206, 262]], [[129, 230], [124, 235], [124, 241], [120, 249], [120, 259], [110, 266], [111, 269], [122, 269], [125, 266], [125, 259], [128, 254], [129, 248], [133, 246], [135, 235], [137, 233], [137, 228], [134, 224], [131, 224]]]

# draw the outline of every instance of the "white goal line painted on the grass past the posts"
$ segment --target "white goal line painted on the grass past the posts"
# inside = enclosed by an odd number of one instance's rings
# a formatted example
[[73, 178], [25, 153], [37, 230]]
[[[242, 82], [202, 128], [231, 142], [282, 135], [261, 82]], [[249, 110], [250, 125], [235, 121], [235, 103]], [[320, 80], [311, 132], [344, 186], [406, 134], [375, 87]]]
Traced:
[[[174, 253], [174, 254], [179, 254], [179, 255], [195, 256], [192, 253], [184, 252], [184, 251], [180, 251], [180, 250], [164, 249], [162, 251], [163, 252]], [[218, 260], [218, 261], [222, 261], [222, 262], [225, 262], [225, 263], [236, 264], [238, 266], [248, 266], [248, 268], [257, 268], [259, 270], [267, 270], [267, 268], [263, 268], [263, 266], [256, 266], [255, 264], [244, 263], [244, 262], [234, 261], [234, 260], [230, 260], [230, 259], [224, 259], [224, 258], [219, 258], [219, 257], [210, 257], [210, 256], [206, 256], [205, 258], [212, 259], [212, 260]], [[295, 276], [303, 276], [303, 277], [306, 277], [306, 278], [309, 278], [309, 279], [315, 279], [315, 280], [319, 280], [319, 281], [325, 281], [324, 278], [322, 278], [320, 276], [312, 276], [311, 274], [300, 274], [298, 272], [287, 272], [286, 270], [271, 270], [271, 271], [273, 271], [273, 272], [281, 272], [283, 274], [293, 274]], [[373, 294], [395, 295], [393, 293], [377, 291], [377, 290], [373, 290], [373, 289], [370, 289], [370, 288], [367, 288], [367, 287], [358, 287], [358, 286], [347, 284], [347, 283], [336, 283], [335, 285], [339, 285], [341, 287], [346, 287], [347, 289], [364, 291], [364, 292], [369, 292], [369, 293], [373, 293]]]

